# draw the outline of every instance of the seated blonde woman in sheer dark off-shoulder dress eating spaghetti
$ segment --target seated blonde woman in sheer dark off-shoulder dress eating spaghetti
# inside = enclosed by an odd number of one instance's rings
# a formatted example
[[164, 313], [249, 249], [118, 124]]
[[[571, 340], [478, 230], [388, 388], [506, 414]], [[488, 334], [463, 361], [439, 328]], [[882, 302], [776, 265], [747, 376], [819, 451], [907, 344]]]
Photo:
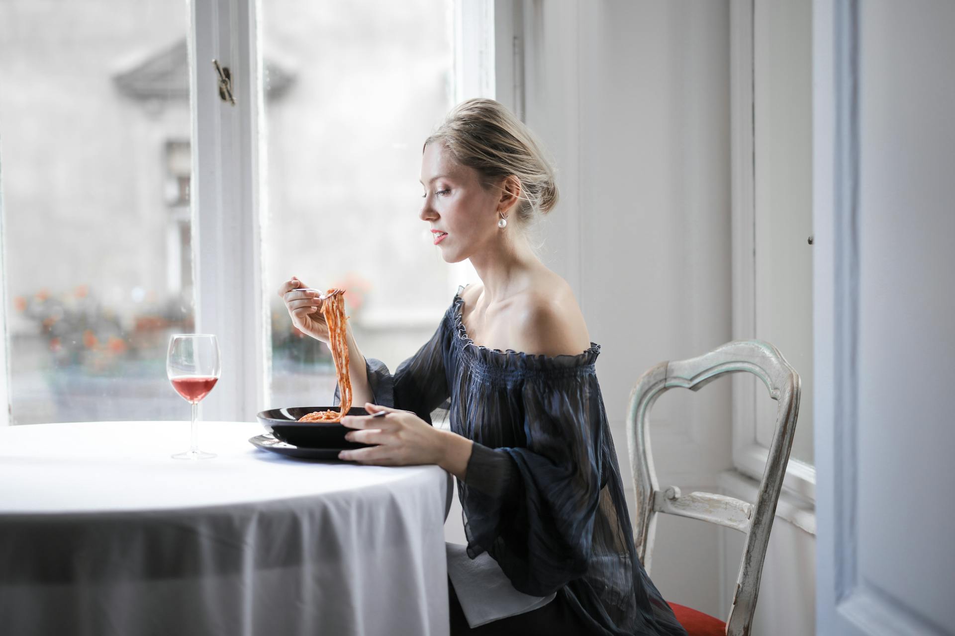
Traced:
[[[353, 403], [341, 458], [435, 463], [458, 480], [468, 556], [488, 552], [520, 592], [553, 601], [469, 628], [450, 585], [452, 633], [686, 632], [633, 555], [617, 455], [590, 341], [570, 287], [534, 255], [525, 229], [554, 207], [553, 170], [498, 102], [472, 99], [424, 144], [424, 203], [447, 262], [470, 258], [481, 284], [458, 289], [435, 332], [392, 376], [349, 332]], [[280, 289], [297, 328], [326, 343], [321, 300]], [[479, 343], [479, 344], [478, 344]], [[431, 412], [450, 399], [451, 431]], [[338, 391], [335, 392], [338, 403]]]

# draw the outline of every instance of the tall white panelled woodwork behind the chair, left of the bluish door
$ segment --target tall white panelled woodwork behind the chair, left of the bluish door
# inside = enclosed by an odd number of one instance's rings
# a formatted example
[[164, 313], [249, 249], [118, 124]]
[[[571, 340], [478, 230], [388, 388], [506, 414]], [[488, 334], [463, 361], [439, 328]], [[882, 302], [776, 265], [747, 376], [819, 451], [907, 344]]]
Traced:
[[[732, 0], [730, 8], [732, 338], [792, 352], [811, 385], [811, 11], [789, 0]], [[772, 403], [763, 398], [752, 377], [732, 378], [733, 464], [755, 479], [774, 430]], [[804, 417], [809, 430], [800, 426], [794, 444], [806, 446], [812, 415]], [[812, 501], [815, 483], [811, 463], [789, 462], [787, 488]]]

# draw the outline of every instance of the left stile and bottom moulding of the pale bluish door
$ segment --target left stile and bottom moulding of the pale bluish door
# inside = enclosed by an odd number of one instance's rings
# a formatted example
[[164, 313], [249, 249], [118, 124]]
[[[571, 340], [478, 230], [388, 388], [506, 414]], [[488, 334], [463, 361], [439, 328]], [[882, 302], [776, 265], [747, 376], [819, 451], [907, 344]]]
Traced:
[[934, 635], [859, 572], [859, 2], [813, 11], [817, 633]]

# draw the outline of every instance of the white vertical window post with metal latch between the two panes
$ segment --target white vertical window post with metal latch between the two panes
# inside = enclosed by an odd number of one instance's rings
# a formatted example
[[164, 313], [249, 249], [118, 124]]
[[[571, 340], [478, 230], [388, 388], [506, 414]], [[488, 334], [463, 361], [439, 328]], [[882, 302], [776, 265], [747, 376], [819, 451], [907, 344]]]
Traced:
[[[208, 420], [250, 421], [265, 403], [265, 316], [259, 223], [261, 56], [255, 4], [193, 0], [193, 272], [196, 331], [216, 334], [223, 373], [202, 401]], [[217, 59], [235, 106], [219, 97]]]

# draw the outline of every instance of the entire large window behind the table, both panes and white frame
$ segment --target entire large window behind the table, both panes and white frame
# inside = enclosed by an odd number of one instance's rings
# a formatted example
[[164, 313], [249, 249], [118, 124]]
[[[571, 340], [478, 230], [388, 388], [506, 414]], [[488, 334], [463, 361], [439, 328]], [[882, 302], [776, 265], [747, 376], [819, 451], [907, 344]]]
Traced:
[[448, 108], [493, 96], [493, 16], [489, 0], [0, 6], [0, 81], [23, 89], [0, 93], [0, 424], [185, 418], [164, 370], [176, 332], [219, 336], [207, 420], [330, 398], [328, 350], [276, 302], [291, 274], [350, 290], [367, 355], [413, 354], [474, 280], [425, 243], [417, 179]]

